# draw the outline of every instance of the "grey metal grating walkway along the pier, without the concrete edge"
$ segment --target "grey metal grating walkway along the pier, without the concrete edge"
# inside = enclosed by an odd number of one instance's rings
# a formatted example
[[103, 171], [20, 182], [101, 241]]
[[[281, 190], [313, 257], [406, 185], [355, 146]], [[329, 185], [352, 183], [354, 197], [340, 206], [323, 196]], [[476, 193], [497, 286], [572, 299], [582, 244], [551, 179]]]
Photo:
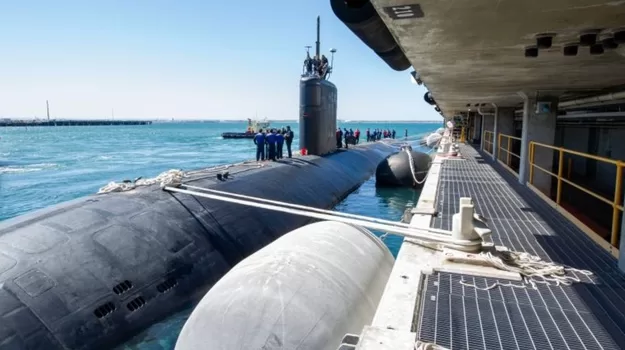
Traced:
[[625, 349], [625, 274], [616, 260], [490, 157], [461, 152], [466, 160], [443, 163], [433, 227], [450, 229], [458, 199], [473, 197], [496, 244], [595, 275], [578, 273], [582, 282], [571, 286], [483, 291], [460, 280], [496, 280], [435, 273], [425, 282], [419, 338], [451, 349]]

